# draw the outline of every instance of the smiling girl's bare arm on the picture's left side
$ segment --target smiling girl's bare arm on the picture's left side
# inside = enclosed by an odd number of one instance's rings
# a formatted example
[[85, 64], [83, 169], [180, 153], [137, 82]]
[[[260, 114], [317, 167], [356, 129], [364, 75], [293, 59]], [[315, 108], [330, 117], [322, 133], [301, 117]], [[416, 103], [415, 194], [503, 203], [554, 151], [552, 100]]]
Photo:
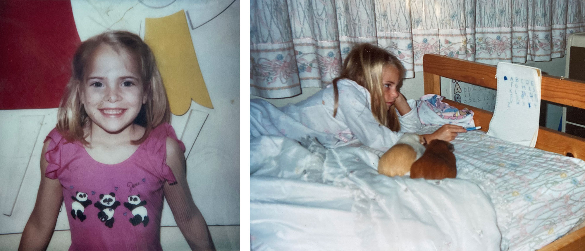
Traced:
[[40, 157], [40, 185], [37, 192], [35, 208], [26, 222], [25, 230], [22, 232], [18, 250], [45, 250], [49, 245], [51, 236], [57, 224], [57, 215], [63, 201], [61, 183], [57, 179], [49, 179], [44, 172], [49, 164], [44, 158], [49, 141], [43, 146]]

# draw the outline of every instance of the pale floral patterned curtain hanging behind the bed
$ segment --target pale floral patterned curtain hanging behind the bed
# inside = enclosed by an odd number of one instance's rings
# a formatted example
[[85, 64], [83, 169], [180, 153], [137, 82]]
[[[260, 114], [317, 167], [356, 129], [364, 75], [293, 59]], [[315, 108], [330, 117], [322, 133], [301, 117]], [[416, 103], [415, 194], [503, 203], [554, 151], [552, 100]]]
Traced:
[[250, 94], [322, 88], [356, 43], [391, 51], [412, 78], [426, 53], [487, 64], [563, 57], [575, 32], [585, 32], [583, 0], [252, 0]]

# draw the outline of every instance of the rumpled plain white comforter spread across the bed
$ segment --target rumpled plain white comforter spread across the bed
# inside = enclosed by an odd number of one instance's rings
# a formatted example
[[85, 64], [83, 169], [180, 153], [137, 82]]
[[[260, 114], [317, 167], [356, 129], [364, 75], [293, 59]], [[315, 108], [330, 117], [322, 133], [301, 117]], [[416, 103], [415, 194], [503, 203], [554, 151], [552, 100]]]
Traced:
[[252, 250], [500, 250], [477, 184], [386, 177], [364, 147], [250, 140]]

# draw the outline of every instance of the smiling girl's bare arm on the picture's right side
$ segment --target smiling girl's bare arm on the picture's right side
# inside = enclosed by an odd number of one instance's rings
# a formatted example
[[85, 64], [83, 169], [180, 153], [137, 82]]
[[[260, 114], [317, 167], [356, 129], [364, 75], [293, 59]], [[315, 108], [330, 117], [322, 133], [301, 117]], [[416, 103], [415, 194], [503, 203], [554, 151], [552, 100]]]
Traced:
[[164, 184], [164, 196], [181, 233], [192, 250], [215, 250], [207, 223], [195, 205], [185, 175], [185, 157], [177, 141], [167, 138], [167, 165], [173, 170], [177, 184]]

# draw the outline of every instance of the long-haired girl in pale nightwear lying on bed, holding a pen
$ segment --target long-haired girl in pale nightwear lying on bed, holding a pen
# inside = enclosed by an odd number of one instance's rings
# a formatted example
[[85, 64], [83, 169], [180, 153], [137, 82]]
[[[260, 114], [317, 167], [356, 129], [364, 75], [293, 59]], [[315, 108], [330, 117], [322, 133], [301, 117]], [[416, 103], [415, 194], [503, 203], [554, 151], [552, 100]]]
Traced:
[[[295, 140], [315, 137], [328, 148], [361, 142], [386, 152], [404, 133], [421, 127], [415, 100], [400, 93], [405, 69], [391, 53], [358, 44], [343, 62], [333, 84], [297, 103], [277, 108], [250, 100], [250, 137], [280, 135]], [[466, 130], [445, 124], [421, 141], [451, 141]]]

